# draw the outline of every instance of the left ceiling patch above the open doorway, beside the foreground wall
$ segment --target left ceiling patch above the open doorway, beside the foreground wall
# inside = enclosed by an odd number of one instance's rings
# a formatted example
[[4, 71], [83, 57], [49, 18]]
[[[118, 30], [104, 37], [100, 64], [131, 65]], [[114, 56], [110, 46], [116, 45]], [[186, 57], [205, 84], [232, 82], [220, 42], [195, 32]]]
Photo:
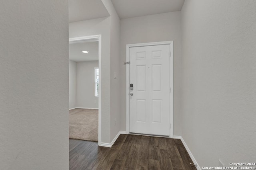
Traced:
[[69, 22], [110, 16], [101, 0], [68, 0]]

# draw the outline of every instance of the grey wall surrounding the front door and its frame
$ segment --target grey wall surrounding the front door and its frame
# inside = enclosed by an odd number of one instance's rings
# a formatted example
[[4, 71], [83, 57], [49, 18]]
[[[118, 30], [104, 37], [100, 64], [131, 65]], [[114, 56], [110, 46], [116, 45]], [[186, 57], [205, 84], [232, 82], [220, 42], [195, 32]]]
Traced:
[[126, 44], [174, 42], [174, 135], [181, 135], [181, 13], [169, 12], [120, 20], [122, 130], [126, 130]]

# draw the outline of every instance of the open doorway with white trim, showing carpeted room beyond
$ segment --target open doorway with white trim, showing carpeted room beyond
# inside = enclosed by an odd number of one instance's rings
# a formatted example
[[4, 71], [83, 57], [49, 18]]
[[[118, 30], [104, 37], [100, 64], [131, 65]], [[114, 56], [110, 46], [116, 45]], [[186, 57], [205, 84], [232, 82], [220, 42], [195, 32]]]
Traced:
[[70, 38], [69, 53], [69, 138], [101, 145], [101, 35]]

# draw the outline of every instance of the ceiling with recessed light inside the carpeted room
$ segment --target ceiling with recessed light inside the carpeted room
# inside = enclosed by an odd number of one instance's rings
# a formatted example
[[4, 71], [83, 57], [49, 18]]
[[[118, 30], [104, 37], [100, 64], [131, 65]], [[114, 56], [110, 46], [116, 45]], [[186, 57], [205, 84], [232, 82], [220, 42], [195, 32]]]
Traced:
[[[89, 53], [82, 53], [82, 51], [89, 51]], [[98, 61], [98, 41], [70, 44], [69, 59], [75, 62]]]

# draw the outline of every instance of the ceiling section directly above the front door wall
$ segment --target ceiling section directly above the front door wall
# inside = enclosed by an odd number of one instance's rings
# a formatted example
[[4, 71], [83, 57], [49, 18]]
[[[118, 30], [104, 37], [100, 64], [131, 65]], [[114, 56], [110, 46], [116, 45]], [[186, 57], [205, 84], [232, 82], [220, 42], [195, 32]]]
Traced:
[[180, 11], [185, 0], [111, 0], [120, 19]]

